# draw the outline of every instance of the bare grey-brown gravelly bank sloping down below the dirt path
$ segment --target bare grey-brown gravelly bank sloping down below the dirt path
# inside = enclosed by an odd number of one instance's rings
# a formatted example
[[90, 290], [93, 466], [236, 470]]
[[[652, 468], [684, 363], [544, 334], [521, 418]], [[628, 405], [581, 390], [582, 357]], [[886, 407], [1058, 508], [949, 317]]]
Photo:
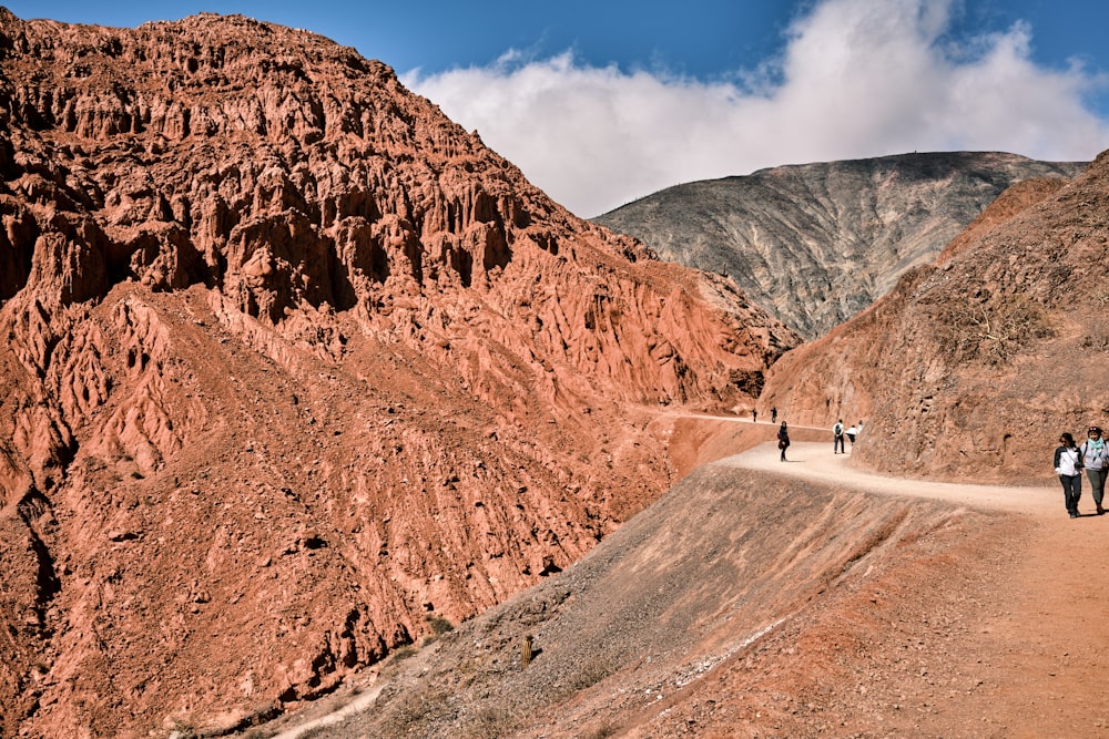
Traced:
[[[817, 736], [851, 704], [849, 736], [867, 726], [848, 677], [865, 627], [845, 615], [893, 596], [902, 568], [944, 598], [929, 561], [968, 558], [970, 532], [1019, 535], [979, 516], [700, 468], [572, 569], [401, 663], [374, 710], [324, 736]], [[540, 650], [527, 669], [525, 634]]]

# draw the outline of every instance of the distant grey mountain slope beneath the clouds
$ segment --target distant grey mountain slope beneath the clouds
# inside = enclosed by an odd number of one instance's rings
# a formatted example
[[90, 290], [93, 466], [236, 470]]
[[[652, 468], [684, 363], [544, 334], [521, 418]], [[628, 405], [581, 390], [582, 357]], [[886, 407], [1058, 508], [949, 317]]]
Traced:
[[788, 165], [678, 185], [593, 220], [663, 259], [729, 275], [812, 339], [930, 261], [1009, 185], [1086, 165], [999, 152]]

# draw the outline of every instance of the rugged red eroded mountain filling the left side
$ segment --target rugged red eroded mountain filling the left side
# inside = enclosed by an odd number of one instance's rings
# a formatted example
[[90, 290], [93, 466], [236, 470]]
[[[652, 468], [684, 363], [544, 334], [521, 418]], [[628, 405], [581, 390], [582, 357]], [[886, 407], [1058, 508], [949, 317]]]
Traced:
[[227, 728], [567, 566], [797, 337], [325, 39], [0, 9], [3, 736]]

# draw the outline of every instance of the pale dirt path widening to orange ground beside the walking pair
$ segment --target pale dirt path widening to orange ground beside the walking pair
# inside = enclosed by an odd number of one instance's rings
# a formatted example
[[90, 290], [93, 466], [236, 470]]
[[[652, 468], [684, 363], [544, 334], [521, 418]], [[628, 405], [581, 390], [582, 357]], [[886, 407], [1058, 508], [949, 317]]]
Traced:
[[[1061, 486], [1005, 487], [887, 478], [851, 466], [831, 442], [794, 442], [781, 462], [773, 443], [721, 460], [752, 470], [820, 480], [879, 494], [948, 501], [1021, 515], [1032, 535], [1013, 543], [1009, 567], [966, 644], [968, 663], [988, 665], [996, 681], [948, 736], [1109, 737], [1109, 515], [1093, 513], [1083, 482], [1079, 519], [1067, 515]], [[1004, 716], [1006, 728], [986, 717]]]

